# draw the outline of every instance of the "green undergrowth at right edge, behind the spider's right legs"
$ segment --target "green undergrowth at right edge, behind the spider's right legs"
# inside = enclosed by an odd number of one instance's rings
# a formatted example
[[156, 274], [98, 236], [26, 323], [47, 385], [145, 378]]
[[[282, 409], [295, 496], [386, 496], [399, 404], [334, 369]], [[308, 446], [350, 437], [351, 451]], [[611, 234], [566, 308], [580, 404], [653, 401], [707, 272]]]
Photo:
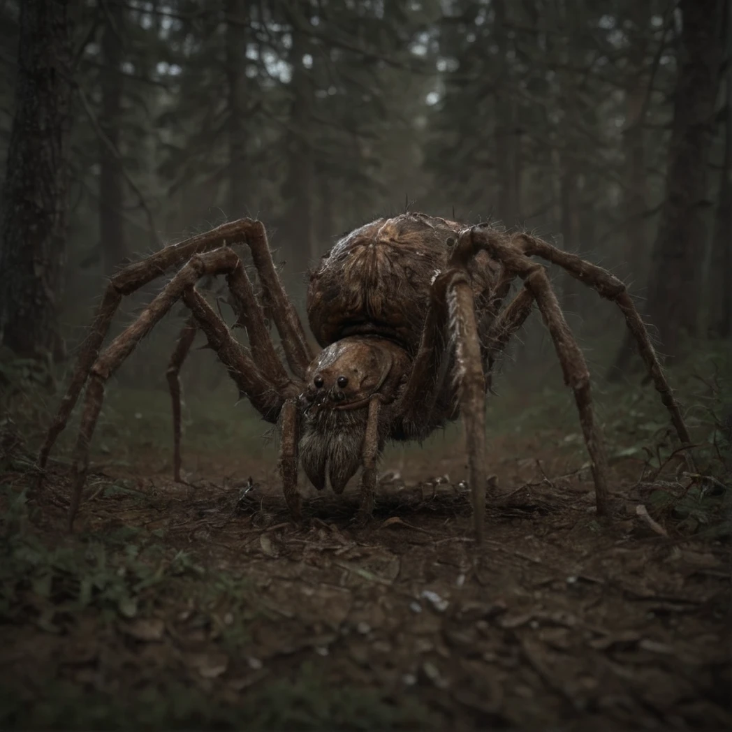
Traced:
[[[649, 378], [593, 383], [611, 465], [632, 464], [651, 513], [681, 534], [732, 535], [732, 345], [701, 343], [666, 372], [692, 447], [685, 448]], [[531, 436], [588, 465], [572, 392], [507, 385], [488, 401], [489, 436]], [[689, 458], [687, 461], [685, 458]]]

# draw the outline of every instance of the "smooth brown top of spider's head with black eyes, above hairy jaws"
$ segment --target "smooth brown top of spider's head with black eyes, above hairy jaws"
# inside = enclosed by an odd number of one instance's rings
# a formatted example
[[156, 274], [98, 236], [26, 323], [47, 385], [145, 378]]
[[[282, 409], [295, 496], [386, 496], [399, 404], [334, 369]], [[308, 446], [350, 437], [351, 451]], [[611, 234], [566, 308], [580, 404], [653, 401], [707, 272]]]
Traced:
[[310, 364], [300, 397], [307, 411], [365, 408], [373, 395], [392, 401], [406, 353], [389, 340], [353, 336], [324, 348]]

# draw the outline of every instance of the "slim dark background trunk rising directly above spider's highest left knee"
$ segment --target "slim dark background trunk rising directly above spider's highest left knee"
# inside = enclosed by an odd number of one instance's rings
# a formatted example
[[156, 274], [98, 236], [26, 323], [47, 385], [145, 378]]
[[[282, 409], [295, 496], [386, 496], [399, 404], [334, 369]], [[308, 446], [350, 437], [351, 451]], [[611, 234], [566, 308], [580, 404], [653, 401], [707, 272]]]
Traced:
[[228, 147], [230, 219], [248, 214], [247, 141], [247, 19], [248, 0], [226, 0], [226, 80], [228, 81]]

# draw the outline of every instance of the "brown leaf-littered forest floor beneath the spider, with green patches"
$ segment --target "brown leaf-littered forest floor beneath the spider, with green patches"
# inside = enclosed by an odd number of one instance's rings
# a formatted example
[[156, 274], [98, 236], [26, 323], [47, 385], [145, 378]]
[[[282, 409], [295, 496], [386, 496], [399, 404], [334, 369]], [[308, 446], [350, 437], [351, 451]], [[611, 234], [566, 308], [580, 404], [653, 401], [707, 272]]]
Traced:
[[370, 526], [355, 487], [302, 488], [296, 526], [272, 449], [212, 447], [202, 419], [173, 482], [122, 395], [70, 536], [67, 467], [27, 501], [6, 424], [0, 728], [731, 728], [728, 483], [664, 457], [636, 400], [605, 410], [599, 520], [551, 398], [490, 433], [482, 548], [459, 430], [387, 453]]

